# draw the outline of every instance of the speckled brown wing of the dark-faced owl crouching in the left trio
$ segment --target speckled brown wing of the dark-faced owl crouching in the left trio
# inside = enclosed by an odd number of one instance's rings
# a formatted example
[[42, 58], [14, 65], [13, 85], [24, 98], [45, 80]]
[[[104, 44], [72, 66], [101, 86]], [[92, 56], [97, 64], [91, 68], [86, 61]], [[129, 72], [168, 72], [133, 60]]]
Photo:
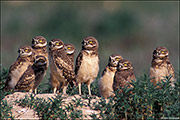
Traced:
[[31, 68], [31, 65], [28, 67], [28, 69], [24, 72], [24, 74], [20, 77], [18, 83], [15, 86], [15, 89], [18, 90], [24, 90], [27, 89], [32, 82], [35, 82], [35, 73], [33, 69]]

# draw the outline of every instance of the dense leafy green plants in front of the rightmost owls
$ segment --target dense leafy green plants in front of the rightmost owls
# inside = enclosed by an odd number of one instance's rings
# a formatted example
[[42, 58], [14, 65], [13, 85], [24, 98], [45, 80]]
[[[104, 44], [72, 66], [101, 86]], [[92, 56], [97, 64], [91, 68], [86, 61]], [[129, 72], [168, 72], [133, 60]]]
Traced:
[[116, 96], [107, 102], [103, 97], [95, 104], [95, 110], [100, 110], [100, 116], [92, 114], [93, 119], [161, 119], [179, 118], [179, 75], [176, 76], [175, 87], [170, 86], [170, 76], [167, 76], [157, 88], [150, 82], [148, 75], [132, 81], [133, 88], [119, 88]]

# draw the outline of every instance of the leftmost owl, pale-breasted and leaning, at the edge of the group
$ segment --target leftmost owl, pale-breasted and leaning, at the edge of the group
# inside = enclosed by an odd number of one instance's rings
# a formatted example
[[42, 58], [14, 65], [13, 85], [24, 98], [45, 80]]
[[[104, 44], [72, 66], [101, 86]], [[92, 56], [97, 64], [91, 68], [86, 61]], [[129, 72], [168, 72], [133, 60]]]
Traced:
[[19, 78], [26, 71], [29, 65], [33, 64], [34, 52], [31, 46], [23, 45], [18, 49], [18, 58], [10, 66], [8, 77], [5, 83], [5, 90], [14, 89]]

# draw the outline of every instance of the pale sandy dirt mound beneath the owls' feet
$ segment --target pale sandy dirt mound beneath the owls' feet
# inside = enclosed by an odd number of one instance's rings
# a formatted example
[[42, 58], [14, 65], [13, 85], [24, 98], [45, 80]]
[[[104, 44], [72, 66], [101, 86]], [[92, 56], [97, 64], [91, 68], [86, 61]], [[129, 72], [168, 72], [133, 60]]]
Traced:
[[[39, 119], [36, 111], [33, 109], [30, 109], [29, 107], [22, 107], [17, 104], [17, 100], [24, 99], [25, 96], [30, 97], [30, 93], [23, 93], [23, 92], [15, 92], [13, 94], [5, 96], [4, 100], [7, 100], [7, 103], [9, 105], [12, 105], [13, 108], [11, 109], [12, 115], [15, 119]], [[34, 95], [34, 98], [43, 98], [45, 100], [49, 100], [49, 98], [55, 98], [56, 94], [37, 94]], [[82, 110], [83, 119], [91, 119], [91, 114], [99, 114], [100, 111], [93, 110], [93, 105], [96, 104], [98, 101], [100, 101], [100, 98], [97, 96], [92, 96], [91, 100], [79, 96], [62, 96], [63, 97], [63, 104], [60, 107], [66, 107], [66, 105], [69, 105], [70, 103], [73, 106], [76, 106], [74, 104], [76, 100], [80, 100], [82, 102], [82, 106], [77, 106], [76, 110]]]

